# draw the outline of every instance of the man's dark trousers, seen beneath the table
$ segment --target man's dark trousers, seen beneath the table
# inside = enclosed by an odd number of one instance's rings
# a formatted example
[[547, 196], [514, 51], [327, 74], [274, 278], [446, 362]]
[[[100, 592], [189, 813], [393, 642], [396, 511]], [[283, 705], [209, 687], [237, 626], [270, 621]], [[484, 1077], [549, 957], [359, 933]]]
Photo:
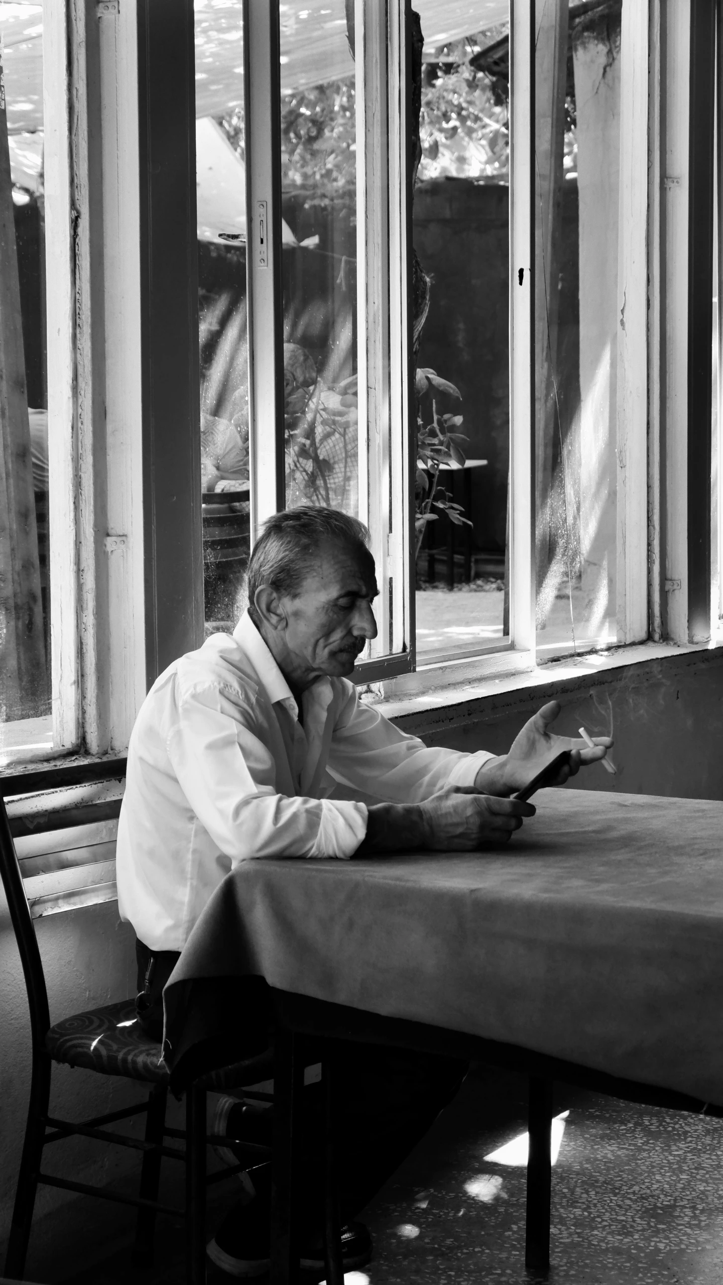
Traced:
[[[152, 952], [136, 943], [143, 1028], [161, 1040], [163, 987], [179, 955]], [[309, 1056], [309, 1061], [315, 1061]], [[452, 1101], [466, 1073], [466, 1063], [435, 1054], [408, 1052], [379, 1045], [334, 1041], [336, 1079], [336, 1150], [342, 1218], [353, 1218], [387, 1182], [424, 1137], [439, 1112]], [[304, 1091], [302, 1164], [306, 1214], [321, 1217], [324, 1190], [321, 1154], [324, 1100], [321, 1085]], [[259, 1195], [268, 1187], [267, 1167], [253, 1171]]]

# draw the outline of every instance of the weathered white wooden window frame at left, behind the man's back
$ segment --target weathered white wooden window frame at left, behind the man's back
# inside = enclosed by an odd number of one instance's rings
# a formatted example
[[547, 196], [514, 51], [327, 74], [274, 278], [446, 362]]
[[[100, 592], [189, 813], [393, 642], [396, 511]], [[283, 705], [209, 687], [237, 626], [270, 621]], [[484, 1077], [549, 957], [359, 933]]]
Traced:
[[19, 761], [122, 752], [145, 695], [136, 15], [42, 24], [53, 750]]

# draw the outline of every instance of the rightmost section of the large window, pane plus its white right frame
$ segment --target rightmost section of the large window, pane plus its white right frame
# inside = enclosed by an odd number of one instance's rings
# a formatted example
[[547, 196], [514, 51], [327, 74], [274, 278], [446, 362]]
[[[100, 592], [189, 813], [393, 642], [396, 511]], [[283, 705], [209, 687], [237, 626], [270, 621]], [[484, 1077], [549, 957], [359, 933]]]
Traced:
[[536, 33], [541, 658], [647, 635], [645, 465], [636, 472], [646, 454], [647, 19], [638, 9], [547, 5]]

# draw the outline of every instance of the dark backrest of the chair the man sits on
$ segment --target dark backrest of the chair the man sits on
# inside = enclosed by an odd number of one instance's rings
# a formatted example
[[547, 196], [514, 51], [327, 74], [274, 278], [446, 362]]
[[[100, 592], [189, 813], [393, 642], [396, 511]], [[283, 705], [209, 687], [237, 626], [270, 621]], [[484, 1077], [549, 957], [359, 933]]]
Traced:
[[[33, 916], [26, 896], [21, 862], [14, 838], [19, 835], [46, 834], [54, 830], [82, 825], [90, 821], [105, 821], [118, 816], [121, 799], [103, 802], [81, 802], [77, 806], [64, 806], [53, 810], [42, 804], [45, 790], [72, 790], [95, 781], [116, 781], [125, 776], [126, 761], [112, 759], [92, 763], [72, 763], [63, 767], [46, 767], [39, 771], [15, 772], [0, 776], [0, 878], [8, 898], [10, 920], [18, 943], [26, 989], [28, 997], [33, 1050], [45, 1047], [45, 1036], [50, 1027], [48, 991], [42, 971], [42, 960], [37, 947]], [[72, 798], [72, 797], [71, 797]], [[12, 819], [8, 816], [6, 799], [13, 799]], [[22, 801], [31, 799], [33, 807], [23, 810]], [[18, 807], [19, 804], [19, 807]], [[24, 813], [24, 815], [23, 815]]]

